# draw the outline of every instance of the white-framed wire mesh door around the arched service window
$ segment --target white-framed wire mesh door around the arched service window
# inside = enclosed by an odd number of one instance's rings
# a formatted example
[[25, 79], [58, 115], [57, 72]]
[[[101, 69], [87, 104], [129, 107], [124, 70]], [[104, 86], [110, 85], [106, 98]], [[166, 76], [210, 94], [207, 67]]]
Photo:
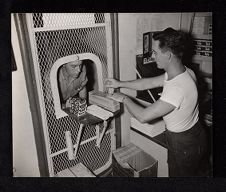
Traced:
[[[76, 159], [69, 160], [65, 132], [71, 131], [72, 143], [75, 144], [80, 124], [69, 116], [56, 118], [50, 71], [59, 58], [73, 54], [92, 53], [101, 61], [102, 78], [111, 75], [110, 14], [33, 13], [26, 14], [26, 20], [41, 105], [50, 176], [79, 162], [95, 174], [99, 174], [111, 164], [111, 152], [115, 149], [114, 121], [107, 129], [99, 148], [95, 145], [97, 139], [95, 125], [87, 125]], [[102, 123], [100, 127], [103, 127]]]

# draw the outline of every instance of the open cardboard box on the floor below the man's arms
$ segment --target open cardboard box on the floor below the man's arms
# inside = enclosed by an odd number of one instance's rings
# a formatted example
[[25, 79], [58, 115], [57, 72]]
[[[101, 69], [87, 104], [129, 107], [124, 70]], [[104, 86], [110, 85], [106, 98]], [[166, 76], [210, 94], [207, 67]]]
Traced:
[[157, 177], [158, 161], [130, 143], [112, 153], [113, 176]]

